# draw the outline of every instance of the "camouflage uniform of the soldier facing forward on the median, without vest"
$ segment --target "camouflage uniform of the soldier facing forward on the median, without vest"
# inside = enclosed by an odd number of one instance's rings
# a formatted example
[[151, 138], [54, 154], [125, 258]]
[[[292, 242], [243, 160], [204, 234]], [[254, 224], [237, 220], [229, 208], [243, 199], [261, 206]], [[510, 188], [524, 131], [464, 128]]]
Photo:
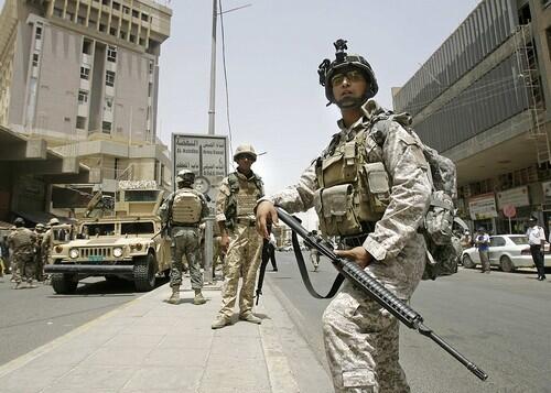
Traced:
[[[228, 222], [228, 219], [234, 221], [233, 225], [227, 226], [229, 247], [225, 260], [219, 312], [219, 315], [226, 318], [230, 318], [234, 314], [240, 273], [242, 274], [242, 286], [239, 293], [239, 314], [246, 316], [252, 313], [255, 283], [262, 250], [262, 238], [257, 233], [253, 214], [256, 200], [263, 195], [260, 177], [255, 173], [251, 173], [248, 178], [239, 172], [231, 175], [237, 176], [239, 182], [239, 190], [237, 195], [233, 196], [238, 200], [236, 216], [226, 217], [231, 196], [229, 176], [222, 181], [216, 198], [216, 221]], [[258, 189], [257, 184], [260, 185], [260, 189]]]

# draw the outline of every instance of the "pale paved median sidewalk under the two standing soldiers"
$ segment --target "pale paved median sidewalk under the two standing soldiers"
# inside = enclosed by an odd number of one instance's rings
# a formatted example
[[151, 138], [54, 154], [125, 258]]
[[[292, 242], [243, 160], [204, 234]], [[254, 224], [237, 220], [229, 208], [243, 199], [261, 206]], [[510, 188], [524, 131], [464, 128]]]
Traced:
[[332, 392], [269, 285], [263, 292], [262, 325], [236, 314], [235, 325], [212, 330], [220, 291], [205, 288], [207, 303], [195, 306], [184, 286], [170, 305], [165, 284], [0, 367], [0, 392]]

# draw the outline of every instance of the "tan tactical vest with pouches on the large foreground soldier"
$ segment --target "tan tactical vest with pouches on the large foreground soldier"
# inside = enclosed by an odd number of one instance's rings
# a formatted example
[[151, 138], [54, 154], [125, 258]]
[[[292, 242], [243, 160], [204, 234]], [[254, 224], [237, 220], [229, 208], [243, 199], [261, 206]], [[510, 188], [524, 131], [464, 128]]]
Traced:
[[372, 230], [390, 199], [388, 174], [381, 162], [370, 163], [366, 130], [349, 142], [332, 141], [316, 162], [320, 189], [314, 207], [324, 236], [359, 236]]

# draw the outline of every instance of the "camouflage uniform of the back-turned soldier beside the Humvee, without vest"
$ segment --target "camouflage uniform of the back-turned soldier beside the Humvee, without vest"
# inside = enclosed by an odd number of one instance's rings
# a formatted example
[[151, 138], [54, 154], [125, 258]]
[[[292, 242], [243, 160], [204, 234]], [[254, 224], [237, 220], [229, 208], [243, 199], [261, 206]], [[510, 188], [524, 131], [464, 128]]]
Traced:
[[[199, 221], [208, 216], [208, 206], [203, 194], [196, 192], [193, 188], [184, 187], [175, 193], [171, 194], [169, 198], [164, 201], [159, 210], [159, 215], [163, 222], [171, 220], [173, 212], [171, 211], [172, 201], [179, 193], [193, 193], [199, 199], [202, 204]], [[201, 273], [201, 249], [199, 249], [199, 228], [198, 222], [194, 225], [180, 225], [177, 222], [170, 223], [171, 228], [171, 253], [172, 253], [172, 266], [171, 266], [171, 287], [180, 287], [182, 285], [182, 272], [184, 271], [184, 264], [182, 262], [182, 256], [185, 256], [187, 266], [190, 269], [190, 276], [193, 290], [201, 290], [203, 287], [203, 273]]]

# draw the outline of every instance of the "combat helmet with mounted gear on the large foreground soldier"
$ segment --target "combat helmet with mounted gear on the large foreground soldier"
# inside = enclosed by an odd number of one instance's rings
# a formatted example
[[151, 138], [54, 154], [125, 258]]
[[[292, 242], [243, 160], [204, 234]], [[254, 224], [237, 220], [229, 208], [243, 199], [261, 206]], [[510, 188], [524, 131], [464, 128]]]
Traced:
[[327, 97], [329, 103], [335, 103], [331, 78], [333, 78], [336, 72], [344, 68], [358, 68], [361, 74], [364, 74], [364, 77], [368, 83], [364, 102], [367, 99], [375, 97], [377, 91], [379, 91], [377, 78], [375, 77], [375, 73], [369, 63], [367, 63], [367, 61], [360, 55], [346, 53], [345, 50], [348, 48], [346, 43], [347, 41], [341, 39], [334, 42], [333, 45], [335, 45], [336, 50], [335, 59], [331, 62], [328, 58], [325, 58], [317, 68], [317, 75], [320, 75], [320, 85], [325, 87], [325, 97]]

